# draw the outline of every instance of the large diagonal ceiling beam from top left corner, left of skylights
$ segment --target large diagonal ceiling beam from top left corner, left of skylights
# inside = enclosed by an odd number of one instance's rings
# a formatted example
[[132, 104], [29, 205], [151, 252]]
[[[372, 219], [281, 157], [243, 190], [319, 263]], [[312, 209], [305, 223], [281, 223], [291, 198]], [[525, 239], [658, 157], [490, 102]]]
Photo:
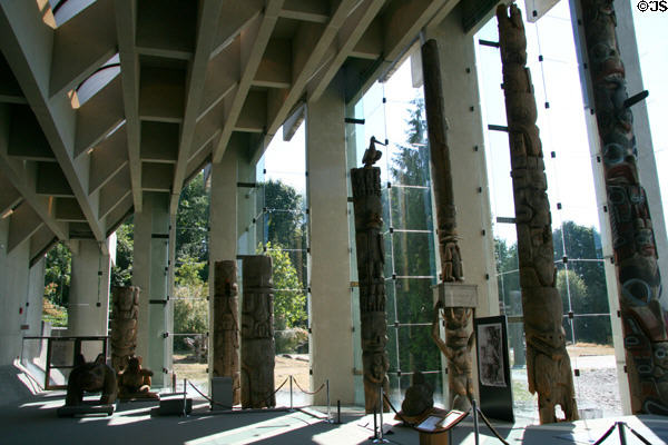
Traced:
[[37, 116], [53, 155], [98, 241], [105, 234], [95, 197], [88, 195], [88, 159], [75, 159], [76, 115], [67, 96], [49, 97], [53, 29], [37, 8], [24, 2], [0, 3], [0, 48]]

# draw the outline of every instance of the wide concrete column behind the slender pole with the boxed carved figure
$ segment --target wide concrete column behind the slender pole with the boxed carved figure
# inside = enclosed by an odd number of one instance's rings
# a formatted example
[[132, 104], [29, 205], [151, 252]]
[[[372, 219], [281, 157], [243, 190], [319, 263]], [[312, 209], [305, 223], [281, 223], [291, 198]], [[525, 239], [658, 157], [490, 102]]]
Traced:
[[[461, 31], [460, 8], [455, 8], [432, 32], [426, 38], [435, 39], [439, 46], [459, 246], [465, 283], [478, 286], [475, 316], [498, 315], [499, 290], [494, 278], [494, 239], [475, 43], [472, 33]], [[475, 354], [472, 358], [473, 380], [478, 382]], [[446, 388], [448, 376], [444, 374], [443, 378], [443, 388]]]

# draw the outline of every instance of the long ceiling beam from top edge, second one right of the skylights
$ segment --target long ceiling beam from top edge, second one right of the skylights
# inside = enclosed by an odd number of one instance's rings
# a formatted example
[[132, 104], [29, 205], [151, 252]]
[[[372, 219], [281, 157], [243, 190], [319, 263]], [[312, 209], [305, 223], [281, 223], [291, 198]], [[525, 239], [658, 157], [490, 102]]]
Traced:
[[173, 195], [169, 202], [171, 214], [176, 214], [178, 208], [178, 198], [186, 175], [188, 157], [193, 149], [197, 117], [204, 95], [206, 69], [212, 49], [214, 48], [216, 31], [218, 29], [218, 18], [220, 17], [224, 3], [223, 0], [204, 0], [200, 3], [202, 8], [199, 9], [197, 20], [197, 49], [193, 63], [189, 66], [188, 83], [186, 87], [186, 108], [178, 146], [178, 160], [174, 168]]

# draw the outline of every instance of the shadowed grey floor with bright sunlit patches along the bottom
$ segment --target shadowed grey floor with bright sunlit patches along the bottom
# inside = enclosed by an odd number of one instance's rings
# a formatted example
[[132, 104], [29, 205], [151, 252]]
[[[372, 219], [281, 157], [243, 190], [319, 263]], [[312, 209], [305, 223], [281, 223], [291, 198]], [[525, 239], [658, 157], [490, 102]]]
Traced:
[[[61, 418], [56, 412], [63, 404], [63, 392], [32, 394], [27, 378], [16, 368], [0, 368], [0, 444], [370, 444], [372, 416], [345, 407], [342, 424], [326, 422], [325, 409], [212, 414], [204, 400], [195, 400], [191, 415], [158, 416], [155, 403], [118, 404], [112, 416]], [[418, 444], [416, 432], [392, 425], [385, 417], [385, 438], [392, 444]], [[626, 422], [650, 444], [668, 441], [668, 417], [628, 416], [580, 421], [546, 426], [494, 423], [510, 444], [593, 444], [616, 421]], [[474, 444], [471, 418], [453, 431], [452, 443]], [[630, 431], [628, 444], [641, 444]], [[131, 442], [130, 442], [131, 441]], [[481, 444], [500, 444], [482, 425]], [[619, 444], [617, 432], [603, 444]]]

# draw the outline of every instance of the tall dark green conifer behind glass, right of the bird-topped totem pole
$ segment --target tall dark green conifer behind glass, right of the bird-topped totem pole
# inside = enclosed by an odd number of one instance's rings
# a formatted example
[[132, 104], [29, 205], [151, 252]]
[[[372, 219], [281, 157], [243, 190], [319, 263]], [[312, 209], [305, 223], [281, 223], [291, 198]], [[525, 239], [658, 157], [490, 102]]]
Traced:
[[[400, 146], [390, 166], [393, 185], [429, 186], [430, 154], [426, 145], [424, 100], [412, 101], [407, 119], [406, 145]], [[391, 194], [390, 196], [387, 194]], [[399, 229], [428, 230], [433, 227], [431, 191], [429, 188], [392, 187], [383, 190], [385, 226]], [[387, 206], [390, 202], [390, 206]], [[387, 208], [390, 207], [390, 208]], [[390, 245], [393, 243], [393, 246]], [[393, 261], [385, 260], [385, 276], [435, 276], [433, 234], [400, 233], [385, 235], [385, 251], [392, 251]], [[394, 270], [392, 270], [394, 266]], [[432, 317], [432, 290], [435, 279], [396, 279], [389, 281], [387, 354], [390, 369], [436, 370], [441, 368], [441, 353], [431, 338], [431, 326], [392, 327], [395, 318], [402, 324], [430, 323]], [[396, 306], [396, 307], [393, 307]], [[395, 317], [396, 310], [396, 317]], [[399, 350], [394, 337], [399, 335]], [[399, 357], [397, 357], [399, 354]]]

